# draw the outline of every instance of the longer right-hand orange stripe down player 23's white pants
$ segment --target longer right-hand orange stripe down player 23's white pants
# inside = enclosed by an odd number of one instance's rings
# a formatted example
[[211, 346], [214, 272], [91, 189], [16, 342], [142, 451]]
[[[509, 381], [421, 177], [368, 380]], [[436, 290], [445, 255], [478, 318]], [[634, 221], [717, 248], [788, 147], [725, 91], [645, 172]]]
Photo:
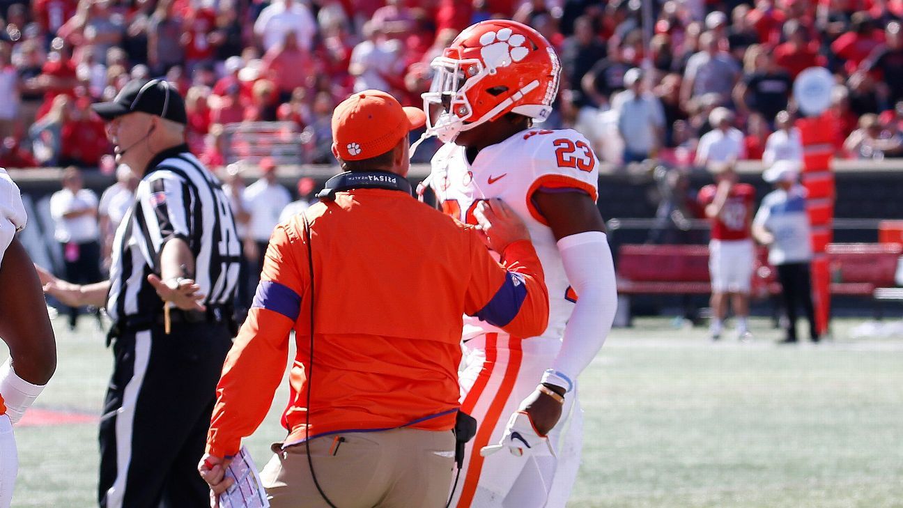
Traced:
[[[489, 335], [487, 335], [487, 339], [489, 339]], [[464, 486], [461, 487], [461, 498], [458, 500], [458, 508], [468, 508], [470, 503], [473, 502], [474, 494], [477, 493], [477, 483], [479, 482], [479, 475], [482, 472], [483, 462], [485, 460], [484, 456], [479, 455], [479, 450], [482, 447], [489, 445], [489, 438], [492, 437], [492, 430], [496, 428], [498, 419], [502, 416], [502, 410], [505, 409], [505, 403], [508, 398], [511, 397], [511, 392], [514, 390], [514, 385], [517, 382], [517, 372], [520, 372], [520, 362], [524, 356], [524, 353], [520, 348], [520, 341], [520, 339], [508, 336], [508, 351], [510, 352], [510, 356], [508, 357], [507, 368], [505, 370], [505, 378], [502, 380], [501, 386], [498, 387], [498, 393], [496, 393], [495, 398], [489, 405], [489, 410], [486, 412], [486, 418], [479, 422], [480, 425], [477, 436], [473, 439], [473, 451], [470, 453], [470, 465], [468, 465], [467, 477], [464, 478]], [[493, 341], [493, 343], [495, 343], [495, 341]], [[487, 341], [486, 345], [487, 360], [489, 360], [489, 341]], [[494, 350], [495, 348], [496, 346], [493, 345], [492, 349]], [[493, 354], [493, 356], [495, 356], [495, 354]], [[489, 371], [489, 374], [490, 373], [491, 371]], [[486, 376], [487, 381], [489, 381], [489, 374]], [[482, 375], [482, 372], [480, 372], [480, 375]], [[485, 386], [486, 383], [483, 384]], [[477, 398], [474, 399], [476, 400]]]

